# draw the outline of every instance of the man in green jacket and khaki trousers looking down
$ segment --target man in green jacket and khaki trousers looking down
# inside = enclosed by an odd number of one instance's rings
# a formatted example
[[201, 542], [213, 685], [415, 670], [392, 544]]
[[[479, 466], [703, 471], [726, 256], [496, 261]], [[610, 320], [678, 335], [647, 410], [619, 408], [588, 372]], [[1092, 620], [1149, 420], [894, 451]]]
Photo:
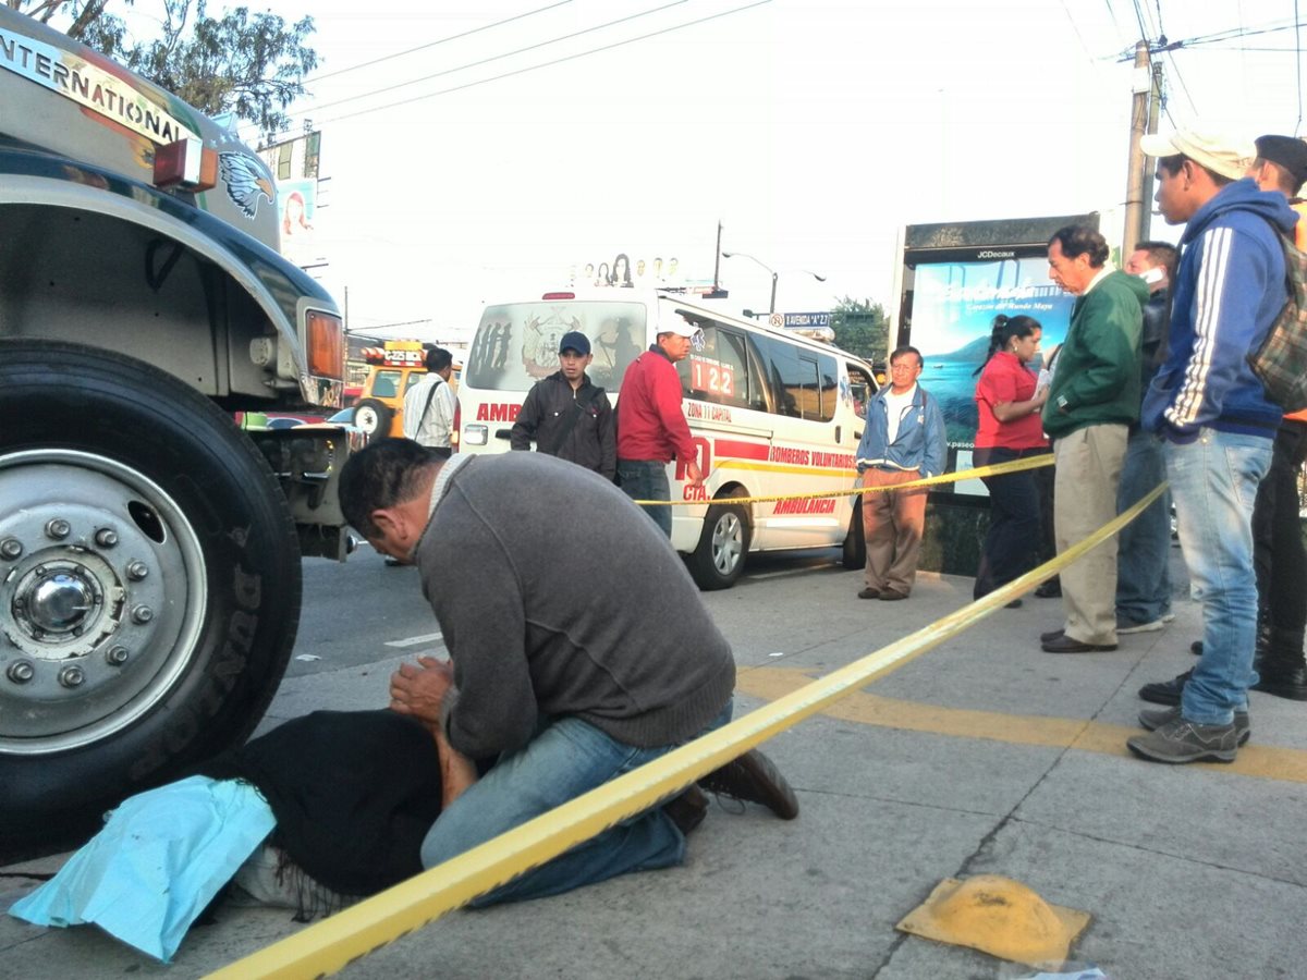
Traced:
[[[1107, 261], [1094, 229], [1069, 225], [1048, 240], [1048, 277], [1076, 297], [1057, 355], [1044, 431], [1056, 465], [1059, 554], [1116, 516], [1128, 429], [1140, 409], [1140, 332], [1148, 285]], [[1048, 653], [1116, 649], [1116, 538], [1061, 572], [1063, 629], [1040, 636]]]

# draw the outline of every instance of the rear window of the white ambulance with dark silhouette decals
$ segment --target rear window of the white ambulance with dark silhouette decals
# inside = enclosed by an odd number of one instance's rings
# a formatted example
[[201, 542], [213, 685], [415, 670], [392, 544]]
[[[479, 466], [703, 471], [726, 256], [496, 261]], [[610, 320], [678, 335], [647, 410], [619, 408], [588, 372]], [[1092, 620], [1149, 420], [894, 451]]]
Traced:
[[643, 303], [544, 301], [490, 306], [481, 315], [464, 376], [473, 388], [528, 391], [558, 370], [558, 341], [569, 331], [589, 338], [589, 379], [616, 393], [626, 366], [644, 350]]

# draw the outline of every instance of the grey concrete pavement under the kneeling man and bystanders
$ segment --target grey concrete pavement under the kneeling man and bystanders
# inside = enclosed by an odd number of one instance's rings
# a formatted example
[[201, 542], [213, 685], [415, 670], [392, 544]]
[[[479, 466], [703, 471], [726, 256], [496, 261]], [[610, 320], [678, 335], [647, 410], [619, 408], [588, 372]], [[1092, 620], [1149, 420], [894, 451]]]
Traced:
[[[1183, 566], [1178, 566], [1183, 581]], [[859, 601], [834, 568], [704, 596], [736, 649], [737, 715], [970, 600], [921, 576], [907, 602]], [[1025, 882], [1093, 923], [1072, 951], [1114, 980], [1300, 976], [1307, 921], [1307, 704], [1252, 695], [1230, 766], [1167, 767], [1124, 747], [1146, 681], [1193, 662], [1199, 608], [1120, 649], [1046, 655], [1061, 604], [1027, 596], [765, 749], [802, 813], [710, 811], [685, 866], [559, 898], [457, 912], [350, 977], [1019, 977], [1034, 971], [894, 924], [944, 878]], [[393, 662], [298, 678], [273, 716], [376, 703]], [[742, 810], [742, 811], [740, 811]], [[5, 869], [0, 908], [33, 887]], [[95, 929], [0, 916], [0, 977], [201, 976], [299, 929], [223, 908], [165, 967]]]

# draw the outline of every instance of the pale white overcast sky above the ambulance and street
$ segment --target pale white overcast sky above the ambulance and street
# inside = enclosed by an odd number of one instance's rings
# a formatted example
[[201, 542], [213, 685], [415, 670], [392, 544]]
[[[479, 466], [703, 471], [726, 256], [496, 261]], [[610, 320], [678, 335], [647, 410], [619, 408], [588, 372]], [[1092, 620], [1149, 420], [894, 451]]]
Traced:
[[329, 178], [312, 274], [378, 336], [467, 341], [485, 303], [620, 252], [711, 281], [719, 222], [721, 248], [753, 256], [719, 281], [758, 311], [769, 269], [780, 311], [893, 310], [910, 223], [1098, 210], [1119, 242], [1142, 33], [1185, 42], [1162, 56], [1162, 129], [1252, 137], [1302, 116], [1294, 30], [1191, 43], [1293, 25], [1295, 0], [268, 9], [316, 22], [322, 63], [291, 107], [297, 132], [322, 129]]

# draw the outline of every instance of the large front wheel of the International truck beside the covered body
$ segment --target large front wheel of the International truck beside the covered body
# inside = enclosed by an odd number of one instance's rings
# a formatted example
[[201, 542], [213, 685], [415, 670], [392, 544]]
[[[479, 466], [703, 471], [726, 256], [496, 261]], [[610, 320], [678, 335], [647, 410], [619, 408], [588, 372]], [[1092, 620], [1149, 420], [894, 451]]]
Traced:
[[0, 340], [0, 852], [239, 743], [295, 639], [299, 542], [231, 419], [122, 354]]

